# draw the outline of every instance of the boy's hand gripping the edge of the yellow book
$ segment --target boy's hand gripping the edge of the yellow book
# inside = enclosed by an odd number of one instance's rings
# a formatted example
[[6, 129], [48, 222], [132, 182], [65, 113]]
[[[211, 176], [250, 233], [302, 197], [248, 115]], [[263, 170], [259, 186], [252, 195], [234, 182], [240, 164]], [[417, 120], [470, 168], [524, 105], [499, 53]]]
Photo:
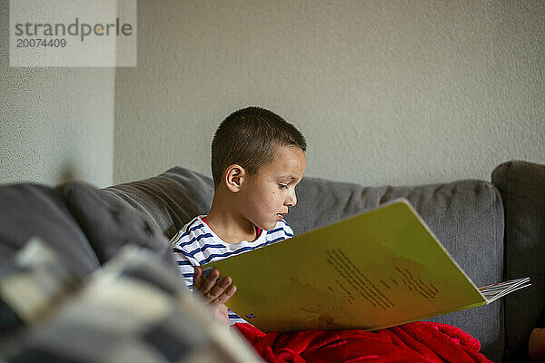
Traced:
[[213, 269], [208, 278], [203, 278], [203, 269], [195, 267], [193, 273], [193, 291], [198, 290], [204, 299], [211, 304], [224, 304], [236, 292], [236, 286], [233, 285], [231, 278], [224, 278], [216, 283], [220, 277], [220, 271]]

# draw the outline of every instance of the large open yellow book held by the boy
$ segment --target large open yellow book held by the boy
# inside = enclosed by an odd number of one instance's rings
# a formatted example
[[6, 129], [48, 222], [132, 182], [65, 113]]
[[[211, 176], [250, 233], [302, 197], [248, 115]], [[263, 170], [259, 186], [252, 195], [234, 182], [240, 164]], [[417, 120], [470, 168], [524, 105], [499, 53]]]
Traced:
[[530, 285], [477, 288], [405, 199], [213, 267], [238, 288], [226, 305], [263, 331], [387, 328]]

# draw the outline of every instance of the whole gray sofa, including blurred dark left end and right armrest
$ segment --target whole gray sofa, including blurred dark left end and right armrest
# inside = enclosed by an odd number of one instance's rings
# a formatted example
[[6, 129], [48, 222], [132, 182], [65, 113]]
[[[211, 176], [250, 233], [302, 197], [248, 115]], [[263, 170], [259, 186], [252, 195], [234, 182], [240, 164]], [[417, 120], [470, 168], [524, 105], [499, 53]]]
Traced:
[[[286, 217], [295, 233], [403, 196], [477, 285], [530, 276], [529, 289], [433, 319], [479, 338], [481, 352], [492, 360], [528, 359], [530, 331], [545, 306], [545, 165], [506, 162], [492, 172], [491, 182], [406, 187], [304, 178], [297, 192], [298, 204]], [[2, 186], [0, 262], [4, 266], [13, 260], [25, 241], [37, 235], [82, 279], [129, 243], [153, 250], [168, 262], [165, 266], [173, 267], [167, 238], [194, 215], [206, 213], [212, 197], [210, 178], [180, 167], [104, 190], [83, 183], [54, 190]]]

